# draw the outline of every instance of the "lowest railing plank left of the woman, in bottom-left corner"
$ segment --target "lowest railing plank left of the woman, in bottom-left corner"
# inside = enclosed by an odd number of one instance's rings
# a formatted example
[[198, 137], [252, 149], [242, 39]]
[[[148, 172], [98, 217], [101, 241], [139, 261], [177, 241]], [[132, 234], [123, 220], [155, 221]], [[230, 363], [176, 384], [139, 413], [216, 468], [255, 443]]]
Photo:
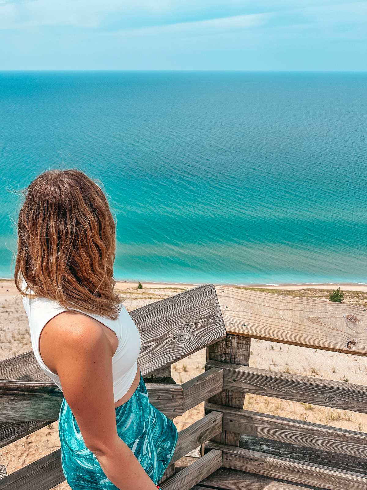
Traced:
[[0, 490], [49, 490], [65, 480], [61, 449], [0, 480]]

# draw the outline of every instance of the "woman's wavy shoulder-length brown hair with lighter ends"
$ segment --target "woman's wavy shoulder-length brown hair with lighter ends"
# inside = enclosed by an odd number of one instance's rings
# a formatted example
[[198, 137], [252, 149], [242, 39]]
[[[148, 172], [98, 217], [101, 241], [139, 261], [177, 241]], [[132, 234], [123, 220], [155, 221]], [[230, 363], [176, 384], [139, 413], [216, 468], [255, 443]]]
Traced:
[[[77, 170], [51, 170], [24, 190], [15, 284], [23, 296], [116, 319], [115, 221], [101, 188]], [[23, 278], [30, 288], [23, 289]], [[28, 291], [28, 292], [27, 292]]]

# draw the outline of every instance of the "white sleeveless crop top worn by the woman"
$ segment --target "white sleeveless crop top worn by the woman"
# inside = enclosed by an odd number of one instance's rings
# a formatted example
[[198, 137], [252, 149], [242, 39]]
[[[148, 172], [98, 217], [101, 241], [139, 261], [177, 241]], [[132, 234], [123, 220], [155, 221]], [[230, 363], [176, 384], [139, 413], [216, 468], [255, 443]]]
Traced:
[[[25, 287], [26, 283], [23, 281], [23, 290]], [[42, 360], [39, 340], [42, 329], [46, 323], [59, 313], [67, 311], [67, 309], [60, 306], [59, 303], [44, 297], [29, 299], [23, 296], [23, 305], [29, 321], [29, 330], [35, 358], [43, 371], [45, 371], [60, 390], [62, 390], [59, 376], [50, 371]], [[77, 308], [70, 309], [80, 312]], [[139, 331], [122, 303], [120, 313], [115, 320], [100, 315], [94, 315], [92, 313], [88, 313], [88, 316], [100, 321], [106, 327], [110, 328], [115, 332], [118, 339], [117, 349], [112, 357], [114, 398], [116, 402], [129, 391], [137, 374], [137, 359], [140, 352]]]

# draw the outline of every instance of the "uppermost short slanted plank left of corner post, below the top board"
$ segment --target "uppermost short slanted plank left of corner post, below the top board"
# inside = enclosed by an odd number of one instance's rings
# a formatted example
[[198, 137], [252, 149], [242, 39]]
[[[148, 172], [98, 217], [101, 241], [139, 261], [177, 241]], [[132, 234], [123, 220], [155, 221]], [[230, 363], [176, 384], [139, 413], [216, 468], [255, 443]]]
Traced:
[[209, 396], [219, 393], [223, 389], [223, 370], [209, 369], [208, 371], [199, 374], [193, 379], [190, 379], [182, 385], [184, 389], [184, 412]]

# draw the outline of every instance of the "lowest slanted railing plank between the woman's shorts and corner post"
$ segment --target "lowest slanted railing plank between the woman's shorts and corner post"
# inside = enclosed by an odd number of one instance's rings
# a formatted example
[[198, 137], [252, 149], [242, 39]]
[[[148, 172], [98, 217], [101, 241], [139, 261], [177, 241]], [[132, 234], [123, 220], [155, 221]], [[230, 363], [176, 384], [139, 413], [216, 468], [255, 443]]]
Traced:
[[213, 450], [199, 458], [190, 466], [166, 480], [162, 490], [190, 490], [194, 485], [210, 475], [222, 465], [222, 452]]

